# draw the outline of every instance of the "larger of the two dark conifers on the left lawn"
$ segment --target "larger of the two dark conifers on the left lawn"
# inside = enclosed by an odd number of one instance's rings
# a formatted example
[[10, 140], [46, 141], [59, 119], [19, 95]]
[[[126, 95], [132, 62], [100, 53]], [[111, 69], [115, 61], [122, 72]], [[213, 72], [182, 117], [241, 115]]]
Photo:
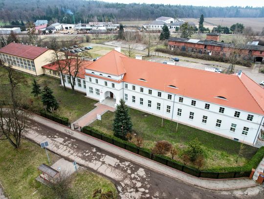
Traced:
[[42, 91], [42, 99], [43, 106], [46, 108], [46, 111], [51, 112], [52, 110], [56, 110], [59, 108], [59, 104], [56, 98], [53, 96], [53, 91], [46, 84]]

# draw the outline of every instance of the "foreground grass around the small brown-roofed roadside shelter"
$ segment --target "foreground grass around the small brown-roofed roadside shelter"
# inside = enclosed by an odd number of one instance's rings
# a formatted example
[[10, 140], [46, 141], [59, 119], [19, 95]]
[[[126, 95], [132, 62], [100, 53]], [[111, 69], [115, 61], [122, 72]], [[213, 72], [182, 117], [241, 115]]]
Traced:
[[[0, 152], [0, 180], [10, 198], [56, 198], [50, 188], [35, 180], [38, 176], [37, 167], [43, 163], [48, 165], [44, 149], [23, 139], [21, 148], [14, 149], [4, 140], [0, 142]], [[48, 153], [52, 163], [60, 159], [60, 156]], [[117, 196], [116, 188], [110, 180], [85, 169], [73, 174], [71, 178], [71, 196], [78, 195], [81, 199], [90, 199], [98, 188], [101, 188], [103, 193], [112, 191]]]

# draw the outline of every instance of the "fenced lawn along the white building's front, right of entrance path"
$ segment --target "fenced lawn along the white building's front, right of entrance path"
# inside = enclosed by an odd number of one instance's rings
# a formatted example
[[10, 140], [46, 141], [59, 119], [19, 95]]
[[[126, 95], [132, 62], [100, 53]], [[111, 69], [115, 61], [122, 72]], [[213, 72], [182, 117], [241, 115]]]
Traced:
[[[239, 157], [238, 162], [236, 162], [235, 160], [241, 146], [239, 142], [182, 124], [178, 124], [176, 132], [176, 122], [164, 119], [164, 126], [161, 127], [162, 119], [160, 117], [134, 109], [130, 109], [130, 114], [133, 130], [143, 137], [145, 148], [152, 149], [156, 141], [167, 140], [181, 152], [189, 141], [197, 137], [204, 148], [205, 161], [202, 169], [220, 166], [241, 166], [257, 151], [257, 148], [245, 145], [243, 156]], [[102, 115], [102, 123], [95, 121], [90, 126], [104, 133], [113, 134], [113, 118], [114, 113], [109, 111]], [[181, 161], [179, 157], [176, 159]]]

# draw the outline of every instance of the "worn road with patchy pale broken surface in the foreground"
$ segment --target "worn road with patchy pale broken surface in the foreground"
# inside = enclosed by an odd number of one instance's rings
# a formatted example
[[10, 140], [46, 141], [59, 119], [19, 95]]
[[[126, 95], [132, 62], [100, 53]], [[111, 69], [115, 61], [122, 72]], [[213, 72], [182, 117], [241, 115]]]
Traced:
[[[32, 121], [34, 129], [26, 134], [29, 139], [37, 143], [47, 140], [50, 144], [48, 147], [50, 151], [70, 161], [76, 160], [78, 164], [109, 177], [115, 182], [121, 199], [262, 199], [262, 188], [260, 186], [233, 191], [202, 189], [182, 182], [175, 177], [168, 177], [156, 170], [134, 163], [131, 161], [130, 153], [126, 154], [128, 155], [126, 158], [113, 155], [102, 149], [107, 143], [73, 131], [74, 137], [71, 137], [60, 132], [61, 130], [64, 131], [66, 127], [39, 116], [35, 116], [34, 119], [41, 120], [45, 125], [46, 123], [51, 124], [48, 125], [51, 127]], [[76, 137], [79, 139], [76, 139]], [[125, 151], [117, 147], [114, 148], [117, 151]], [[139, 156], [137, 157], [139, 158]], [[142, 158], [140, 157], [140, 159]], [[146, 159], [143, 158], [143, 160], [146, 162]], [[158, 163], [154, 164], [156, 167], [159, 165]], [[209, 188], [210, 183], [213, 181], [208, 181], [207, 186]], [[246, 182], [250, 181], [246, 180]], [[227, 183], [228, 186], [233, 187], [237, 186], [234, 183], [229, 183], [228, 180], [220, 180], [217, 183]]]

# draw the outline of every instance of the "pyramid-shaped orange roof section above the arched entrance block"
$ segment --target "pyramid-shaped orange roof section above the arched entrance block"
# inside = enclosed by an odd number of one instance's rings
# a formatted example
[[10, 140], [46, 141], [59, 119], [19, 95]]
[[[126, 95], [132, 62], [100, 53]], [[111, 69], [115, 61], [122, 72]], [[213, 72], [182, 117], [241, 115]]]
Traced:
[[99, 58], [98, 60], [93, 62], [93, 64], [89, 65], [87, 69], [104, 72], [116, 76], [125, 74], [126, 71], [121, 61], [121, 57], [126, 56], [120, 52], [117, 52], [116, 50], [112, 50], [107, 53], [104, 57]]

